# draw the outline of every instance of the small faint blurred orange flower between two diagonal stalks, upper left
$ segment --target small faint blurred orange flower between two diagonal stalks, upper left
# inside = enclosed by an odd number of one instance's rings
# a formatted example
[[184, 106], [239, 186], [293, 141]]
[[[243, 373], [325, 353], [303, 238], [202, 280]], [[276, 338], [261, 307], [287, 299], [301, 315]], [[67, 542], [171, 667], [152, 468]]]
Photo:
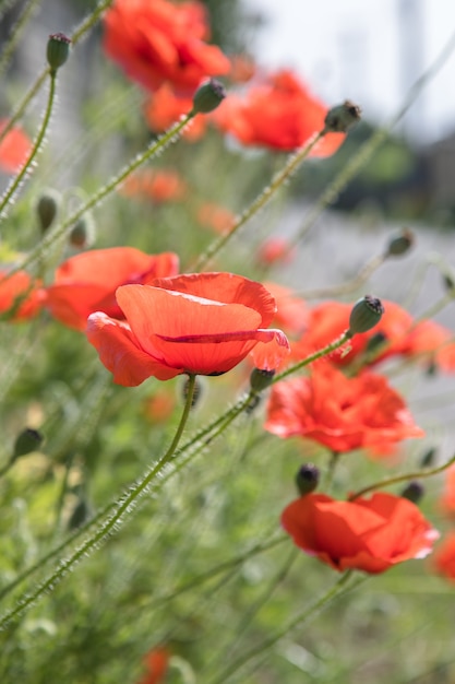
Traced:
[[182, 199], [187, 189], [187, 184], [175, 170], [144, 168], [129, 176], [120, 192], [163, 203]]

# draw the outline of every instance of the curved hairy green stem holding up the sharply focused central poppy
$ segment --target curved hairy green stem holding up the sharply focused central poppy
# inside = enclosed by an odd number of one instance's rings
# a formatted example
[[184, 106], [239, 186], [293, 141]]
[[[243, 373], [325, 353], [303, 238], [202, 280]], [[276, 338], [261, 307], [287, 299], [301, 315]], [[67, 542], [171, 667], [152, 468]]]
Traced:
[[22, 615], [31, 605], [36, 603], [36, 601], [40, 597], [50, 591], [57, 583], [62, 580], [64, 575], [72, 567], [74, 567], [80, 561], [82, 561], [84, 556], [88, 555], [94, 549], [99, 546], [99, 544], [101, 544], [101, 542], [104, 542], [109, 534], [117, 530], [124, 522], [124, 519], [128, 518], [129, 515], [131, 515], [132, 508], [136, 505], [137, 499], [146, 493], [151, 482], [160, 471], [163, 471], [163, 469], [169, 463], [172, 456], [175, 455], [177, 446], [183, 434], [183, 429], [187, 425], [188, 417], [190, 415], [191, 404], [194, 396], [194, 387], [195, 376], [190, 375], [187, 400], [180, 418], [180, 423], [166, 453], [158, 460], [158, 462], [153, 468], [148, 470], [145, 476], [143, 476], [135, 485], [133, 485], [125, 495], [123, 495], [119, 499], [119, 502], [117, 502], [112, 514], [109, 515], [106, 520], [101, 521], [100, 526], [94, 534], [86, 539], [69, 558], [61, 561], [59, 567], [50, 575], [50, 577], [48, 577], [43, 583], [40, 583], [32, 593], [22, 598], [14, 609], [3, 615], [3, 617], [0, 620], [0, 629], [5, 628], [12, 621]]

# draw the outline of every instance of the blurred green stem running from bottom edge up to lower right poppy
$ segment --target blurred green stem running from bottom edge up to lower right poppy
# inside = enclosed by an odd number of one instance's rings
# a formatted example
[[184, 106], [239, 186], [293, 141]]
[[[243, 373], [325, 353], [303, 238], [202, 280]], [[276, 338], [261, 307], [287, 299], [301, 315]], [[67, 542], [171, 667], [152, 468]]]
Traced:
[[[298, 613], [295, 617], [289, 620], [285, 625], [283, 625], [279, 629], [271, 634], [270, 637], [261, 641], [258, 646], [254, 646], [250, 650], [246, 651], [242, 656], [229, 662], [229, 664], [221, 670], [214, 679], [208, 681], [208, 684], [225, 684], [234, 674], [236, 674], [243, 665], [248, 662], [256, 658], [258, 656], [263, 654], [268, 651], [272, 646], [274, 646], [277, 641], [283, 639], [287, 634], [291, 633], [296, 627], [300, 627], [304, 623], [307, 623], [310, 617], [313, 617], [318, 613], [320, 613], [324, 608], [326, 608], [331, 601], [335, 598], [338, 598], [347, 591], [348, 588], [345, 587], [348, 579], [351, 577], [352, 570], [347, 570], [342, 575], [342, 577], [312, 605], [306, 608], [301, 613]], [[360, 582], [359, 582], [360, 583]], [[344, 591], [342, 591], [344, 590]]]

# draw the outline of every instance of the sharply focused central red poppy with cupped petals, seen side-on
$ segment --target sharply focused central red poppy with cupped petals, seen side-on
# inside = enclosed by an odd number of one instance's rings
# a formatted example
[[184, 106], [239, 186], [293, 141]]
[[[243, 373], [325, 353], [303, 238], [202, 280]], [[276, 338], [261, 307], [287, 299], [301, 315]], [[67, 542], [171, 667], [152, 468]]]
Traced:
[[117, 302], [127, 322], [93, 314], [87, 337], [118, 385], [220, 375], [260, 341], [288, 346], [280, 330], [265, 329], [275, 312], [272, 295], [240, 275], [193, 273], [125, 285]]

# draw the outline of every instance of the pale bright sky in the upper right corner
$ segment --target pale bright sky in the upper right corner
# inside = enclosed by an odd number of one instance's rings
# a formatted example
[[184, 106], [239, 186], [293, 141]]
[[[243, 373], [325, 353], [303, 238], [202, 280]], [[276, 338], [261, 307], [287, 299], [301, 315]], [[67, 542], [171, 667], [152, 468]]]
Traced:
[[[378, 122], [455, 35], [455, 0], [243, 1], [267, 20], [254, 49], [261, 64], [292, 67], [327, 105], [350, 98]], [[455, 131], [455, 46], [409, 115], [407, 131], [420, 130], [426, 140]]]

